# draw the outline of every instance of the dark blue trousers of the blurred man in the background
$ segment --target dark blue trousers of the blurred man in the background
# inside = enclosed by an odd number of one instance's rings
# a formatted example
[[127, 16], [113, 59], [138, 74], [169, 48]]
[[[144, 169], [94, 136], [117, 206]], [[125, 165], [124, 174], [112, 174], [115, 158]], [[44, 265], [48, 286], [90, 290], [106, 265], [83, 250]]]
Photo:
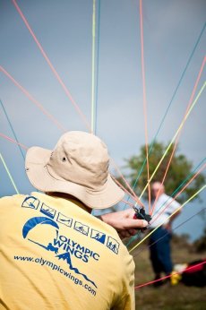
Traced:
[[170, 240], [171, 233], [163, 227], [158, 228], [150, 236], [150, 261], [155, 274], [161, 271], [169, 274], [172, 271]]

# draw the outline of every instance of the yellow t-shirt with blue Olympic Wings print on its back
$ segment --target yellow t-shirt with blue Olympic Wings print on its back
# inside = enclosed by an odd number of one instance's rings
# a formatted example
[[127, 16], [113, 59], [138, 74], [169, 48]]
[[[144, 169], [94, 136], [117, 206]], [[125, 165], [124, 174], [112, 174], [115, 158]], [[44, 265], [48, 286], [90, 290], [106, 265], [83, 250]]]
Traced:
[[0, 266], [0, 309], [134, 309], [133, 257], [74, 201], [1, 198]]

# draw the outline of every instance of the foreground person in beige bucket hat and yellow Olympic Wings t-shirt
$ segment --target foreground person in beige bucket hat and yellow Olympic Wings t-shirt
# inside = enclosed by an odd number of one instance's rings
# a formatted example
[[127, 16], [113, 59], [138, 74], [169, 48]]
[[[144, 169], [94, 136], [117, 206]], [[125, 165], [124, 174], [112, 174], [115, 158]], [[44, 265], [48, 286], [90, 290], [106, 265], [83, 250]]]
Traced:
[[133, 257], [118, 233], [148, 223], [132, 209], [90, 214], [124, 196], [108, 163], [107, 146], [90, 133], [64, 133], [54, 151], [29, 149], [26, 173], [42, 193], [0, 199], [1, 309], [135, 308]]

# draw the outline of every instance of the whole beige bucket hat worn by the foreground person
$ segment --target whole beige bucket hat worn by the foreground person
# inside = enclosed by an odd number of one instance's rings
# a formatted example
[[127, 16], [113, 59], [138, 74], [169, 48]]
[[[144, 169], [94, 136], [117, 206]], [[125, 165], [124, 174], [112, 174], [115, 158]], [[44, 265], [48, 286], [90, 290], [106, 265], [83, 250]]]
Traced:
[[71, 194], [92, 209], [120, 202], [124, 192], [108, 173], [107, 146], [91, 133], [64, 133], [54, 151], [31, 147], [26, 155], [30, 183], [42, 192]]

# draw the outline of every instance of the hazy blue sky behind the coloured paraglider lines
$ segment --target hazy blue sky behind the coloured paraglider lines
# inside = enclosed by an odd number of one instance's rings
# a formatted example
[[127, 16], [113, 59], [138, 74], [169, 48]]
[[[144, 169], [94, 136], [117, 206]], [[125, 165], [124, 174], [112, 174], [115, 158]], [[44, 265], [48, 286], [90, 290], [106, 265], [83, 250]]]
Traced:
[[[17, 4], [91, 126], [93, 1], [19, 0]], [[145, 143], [139, 9], [138, 0], [96, 1], [96, 134], [107, 143], [110, 156], [123, 173], [124, 159], [137, 155]], [[169, 143], [183, 121], [205, 56], [205, 15], [204, 0], [142, 1], [149, 142], [158, 133], [158, 142]], [[0, 0], [0, 42], [4, 71], [64, 130], [88, 131], [85, 119], [56, 80], [12, 0]], [[204, 81], [205, 69], [195, 97]], [[194, 168], [205, 158], [205, 98], [203, 90], [178, 144], [178, 151], [193, 162]], [[63, 131], [2, 70], [0, 99], [19, 142], [27, 147], [55, 147]], [[0, 106], [0, 133], [14, 139], [4, 109]], [[0, 136], [0, 151], [18, 190], [30, 193], [33, 188], [25, 175], [19, 148]], [[0, 163], [0, 196], [9, 194], [15, 194], [15, 190]], [[185, 206], [175, 226], [205, 208], [205, 191], [201, 197], [202, 203], [194, 201]], [[204, 221], [196, 216], [176, 233], [188, 233], [191, 239], [200, 237]]]

